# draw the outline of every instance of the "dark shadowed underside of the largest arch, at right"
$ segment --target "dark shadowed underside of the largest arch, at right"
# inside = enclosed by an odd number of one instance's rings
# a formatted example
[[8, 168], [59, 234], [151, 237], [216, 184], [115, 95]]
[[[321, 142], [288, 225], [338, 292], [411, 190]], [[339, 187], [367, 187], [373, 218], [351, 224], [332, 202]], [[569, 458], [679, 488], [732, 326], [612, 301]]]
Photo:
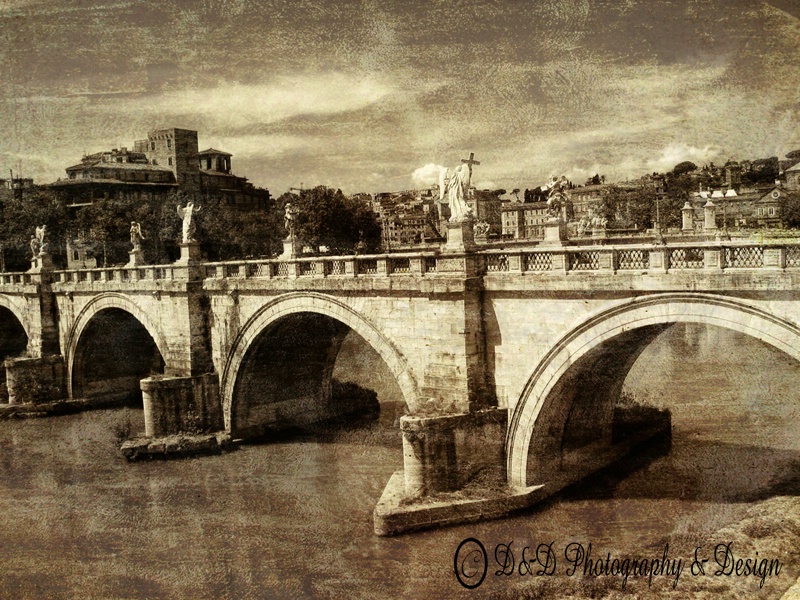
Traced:
[[[596, 472], [648, 441], [669, 447], [670, 415], [619, 405], [625, 379], [645, 348], [670, 324], [607, 340], [572, 364], [545, 398], [528, 447], [528, 484], [546, 493]], [[539, 425], [541, 424], [541, 425]]]

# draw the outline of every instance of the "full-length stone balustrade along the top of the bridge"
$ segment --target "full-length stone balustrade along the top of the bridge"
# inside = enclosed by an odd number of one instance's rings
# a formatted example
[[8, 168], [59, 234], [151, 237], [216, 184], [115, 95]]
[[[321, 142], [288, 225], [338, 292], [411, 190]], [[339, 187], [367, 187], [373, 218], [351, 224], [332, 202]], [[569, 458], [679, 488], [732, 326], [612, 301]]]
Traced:
[[[800, 245], [711, 242], [671, 245], [563, 246], [487, 249], [475, 254], [479, 273], [486, 275], [570, 272], [649, 272], [697, 269], [800, 268]], [[295, 279], [319, 277], [423, 277], [464, 273], [463, 255], [436, 252], [318, 256], [294, 260], [241, 260], [202, 263], [204, 279]], [[53, 272], [56, 284], [186, 280], [186, 265], [105, 267]], [[0, 273], [0, 287], [33, 283], [31, 273]]]

